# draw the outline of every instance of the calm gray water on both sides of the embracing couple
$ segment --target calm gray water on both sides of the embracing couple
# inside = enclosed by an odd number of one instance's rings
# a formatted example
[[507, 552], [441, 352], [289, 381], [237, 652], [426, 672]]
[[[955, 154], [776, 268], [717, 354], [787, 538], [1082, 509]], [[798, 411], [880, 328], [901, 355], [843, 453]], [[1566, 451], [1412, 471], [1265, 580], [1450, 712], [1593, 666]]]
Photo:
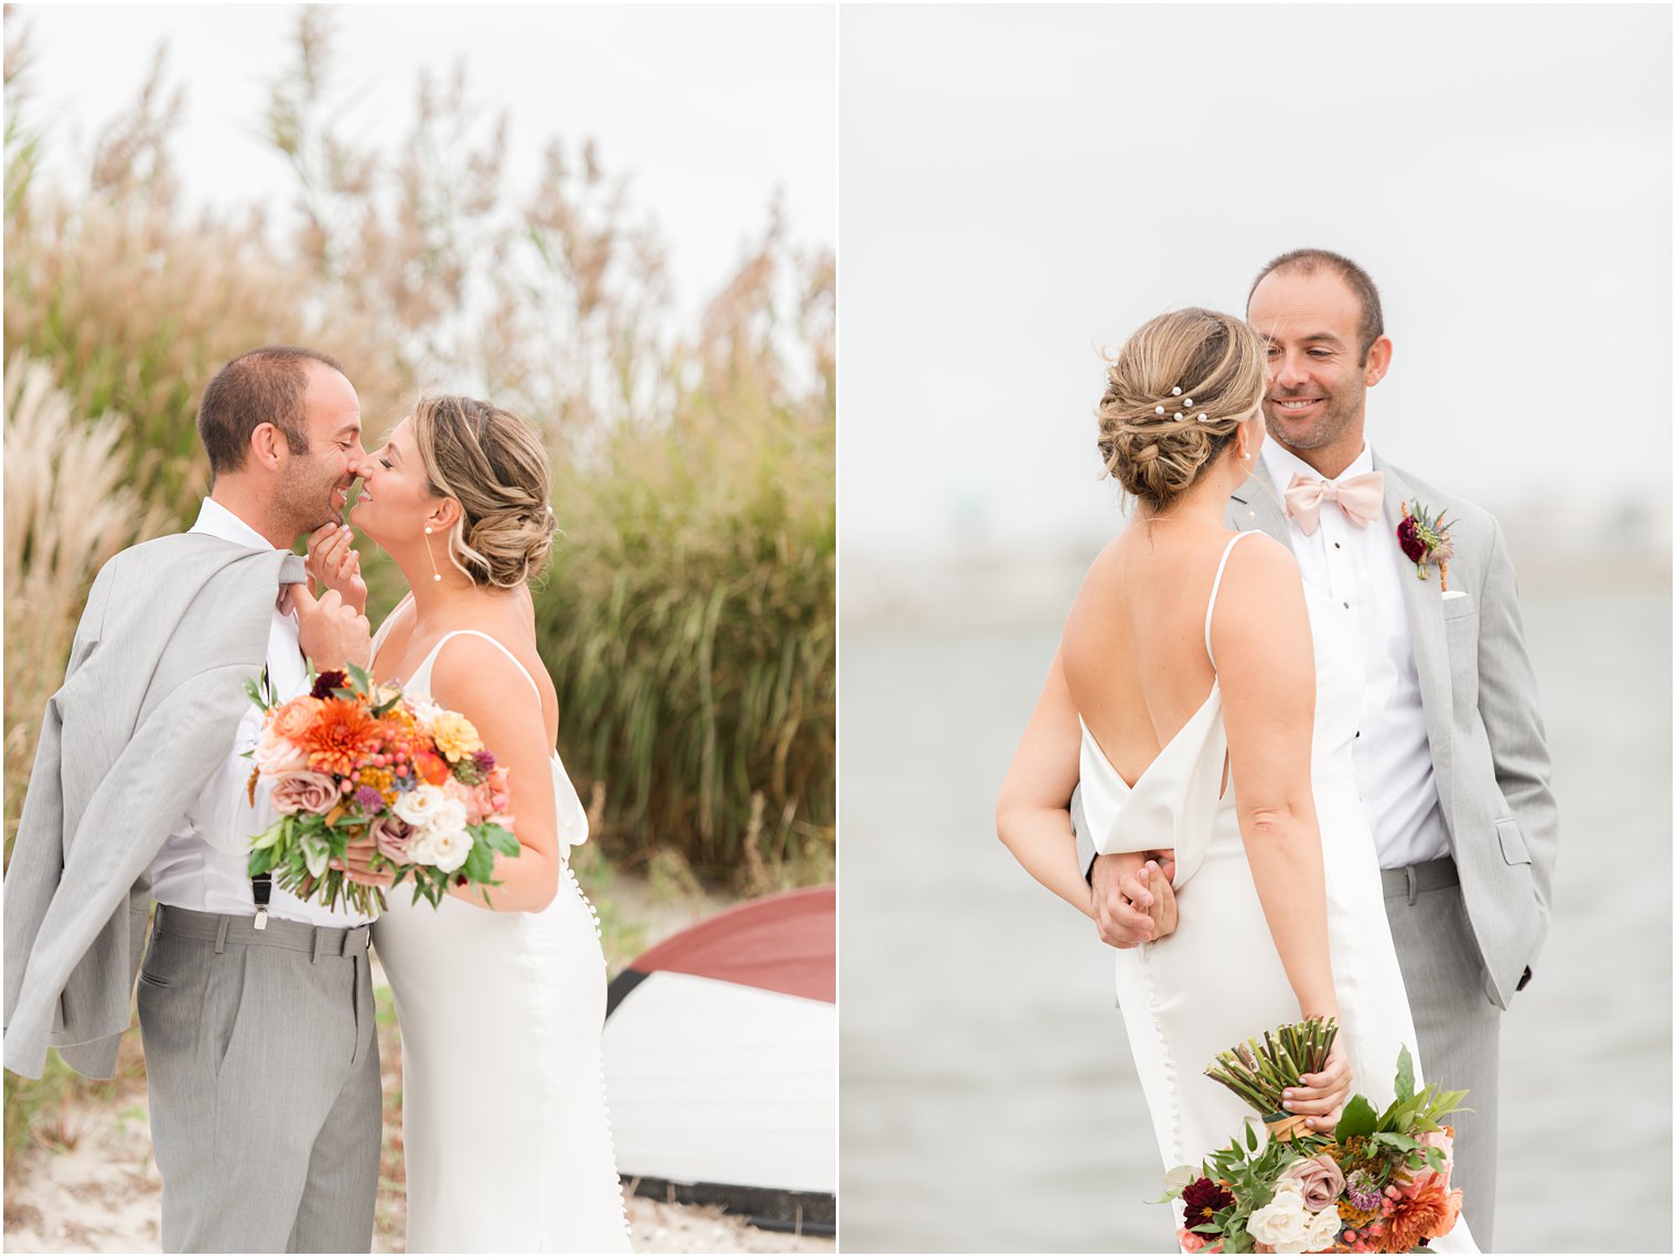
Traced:
[[[1668, 1252], [1671, 593], [1525, 618], [1562, 848], [1503, 1019], [1497, 1247]], [[994, 838], [1056, 634], [845, 630], [848, 1252], [1175, 1250], [1110, 954]]]

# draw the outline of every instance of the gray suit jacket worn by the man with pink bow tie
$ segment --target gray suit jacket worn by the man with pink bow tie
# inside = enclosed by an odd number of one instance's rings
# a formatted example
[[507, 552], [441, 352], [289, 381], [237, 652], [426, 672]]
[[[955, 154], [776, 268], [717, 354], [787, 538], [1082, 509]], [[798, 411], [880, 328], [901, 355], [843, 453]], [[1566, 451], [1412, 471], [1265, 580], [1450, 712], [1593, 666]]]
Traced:
[[[1559, 811], [1549, 788], [1549, 747], [1537, 711], [1537, 679], [1525, 650], [1513, 565], [1495, 518], [1384, 463], [1384, 513], [1401, 518], [1416, 498], [1450, 516], [1455, 558], [1443, 598], [1430, 580], [1404, 580], [1415, 667], [1420, 672], [1433, 779], [1450, 828], [1461, 898], [1488, 975], [1487, 994], [1507, 1007], [1549, 930], [1549, 895], [1559, 850]], [[1267, 471], [1229, 499], [1229, 526], [1260, 530], [1291, 548], [1291, 530]], [[1381, 528], [1373, 523], [1369, 528]], [[1393, 533], [1391, 545], [1396, 545]], [[1094, 843], [1073, 799], [1083, 868]]]

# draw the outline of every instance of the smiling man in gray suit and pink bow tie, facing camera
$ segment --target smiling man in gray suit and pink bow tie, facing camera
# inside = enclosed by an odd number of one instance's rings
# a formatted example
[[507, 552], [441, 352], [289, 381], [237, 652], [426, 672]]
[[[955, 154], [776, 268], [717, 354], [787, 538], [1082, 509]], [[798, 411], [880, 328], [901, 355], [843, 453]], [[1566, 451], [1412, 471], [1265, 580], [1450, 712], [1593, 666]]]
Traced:
[[[1453, 1185], [1490, 1249], [1502, 1011], [1547, 934], [1559, 843], [1513, 566], [1490, 515], [1366, 444], [1366, 391], [1391, 365], [1391, 340], [1361, 266], [1326, 250], [1285, 253], [1252, 285], [1247, 320], [1269, 344], [1270, 441], [1229, 501], [1229, 525], [1287, 543], [1304, 580], [1356, 612], [1356, 784], [1426, 1079], [1470, 1089], [1473, 1111], [1451, 1118]], [[1446, 568], [1416, 561], [1416, 538], [1398, 531], [1404, 511], [1441, 520]], [[1096, 858], [1079, 801], [1073, 825], [1101, 935], [1153, 937], [1120, 888], [1143, 856]]]

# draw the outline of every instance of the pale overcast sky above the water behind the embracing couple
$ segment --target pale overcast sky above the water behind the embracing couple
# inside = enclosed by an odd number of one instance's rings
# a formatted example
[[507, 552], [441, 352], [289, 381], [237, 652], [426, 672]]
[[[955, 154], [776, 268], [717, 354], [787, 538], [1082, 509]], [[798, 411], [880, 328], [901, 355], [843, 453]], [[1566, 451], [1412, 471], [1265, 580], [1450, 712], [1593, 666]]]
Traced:
[[1379, 283], [1391, 461], [1668, 498], [1669, 7], [866, 7], [840, 49], [846, 555], [1110, 536], [1094, 347], [1301, 245]]

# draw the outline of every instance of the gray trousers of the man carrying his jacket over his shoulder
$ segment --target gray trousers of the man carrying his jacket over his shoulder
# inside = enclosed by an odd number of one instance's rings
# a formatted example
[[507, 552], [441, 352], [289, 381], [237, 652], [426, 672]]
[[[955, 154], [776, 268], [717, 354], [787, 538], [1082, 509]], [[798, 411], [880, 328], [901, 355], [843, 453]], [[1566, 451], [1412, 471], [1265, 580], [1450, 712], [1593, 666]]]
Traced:
[[139, 974], [166, 1252], [370, 1252], [367, 927], [158, 905]]

